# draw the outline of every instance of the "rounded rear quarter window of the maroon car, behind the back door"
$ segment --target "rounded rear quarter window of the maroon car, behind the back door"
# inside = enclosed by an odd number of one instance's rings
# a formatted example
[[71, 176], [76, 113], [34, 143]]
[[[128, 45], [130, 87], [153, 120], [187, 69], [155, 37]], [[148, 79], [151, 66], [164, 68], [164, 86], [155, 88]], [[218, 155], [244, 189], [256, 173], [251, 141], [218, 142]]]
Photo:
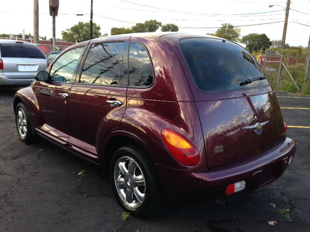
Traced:
[[146, 49], [140, 43], [130, 43], [129, 85], [147, 87], [153, 83], [153, 69]]

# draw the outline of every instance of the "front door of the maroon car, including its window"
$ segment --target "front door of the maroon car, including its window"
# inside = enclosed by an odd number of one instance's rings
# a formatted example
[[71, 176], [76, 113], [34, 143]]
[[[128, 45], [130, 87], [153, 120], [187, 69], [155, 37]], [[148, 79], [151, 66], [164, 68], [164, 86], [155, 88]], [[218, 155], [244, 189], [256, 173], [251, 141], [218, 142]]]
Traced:
[[38, 109], [34, 125], [43, 136], [65, 144], [69, 138], [68, 99], [70, 89], [78, 70], [79, 59], [85, 47], [73, 48], [60, 56], [49, 68], [51, 79], [47, 82], [35, 82], [34, 100]]

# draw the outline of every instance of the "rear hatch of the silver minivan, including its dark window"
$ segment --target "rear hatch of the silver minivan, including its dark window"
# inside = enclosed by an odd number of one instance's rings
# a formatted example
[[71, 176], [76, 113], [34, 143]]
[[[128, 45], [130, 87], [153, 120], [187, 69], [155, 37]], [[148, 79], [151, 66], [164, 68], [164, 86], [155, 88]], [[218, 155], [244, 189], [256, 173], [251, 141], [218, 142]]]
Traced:
[[47, 58], [32, 44], [0, 43], [0, 58], [3, 75], [8, 79], [33, 78], [36, 72], [47, 69]]

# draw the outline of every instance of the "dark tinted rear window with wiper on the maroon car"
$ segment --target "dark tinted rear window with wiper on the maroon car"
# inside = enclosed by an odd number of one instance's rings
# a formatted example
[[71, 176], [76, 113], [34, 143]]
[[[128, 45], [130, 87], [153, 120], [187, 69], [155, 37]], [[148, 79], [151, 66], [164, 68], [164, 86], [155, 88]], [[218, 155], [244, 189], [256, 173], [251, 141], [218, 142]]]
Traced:
[[241, 46], [212, 38], [182, 39], [179, 45], [197, 86], [203, 92], [268, 85], [266, 79], [240, 85], [247, 79], [264, 76], [257, 62]]

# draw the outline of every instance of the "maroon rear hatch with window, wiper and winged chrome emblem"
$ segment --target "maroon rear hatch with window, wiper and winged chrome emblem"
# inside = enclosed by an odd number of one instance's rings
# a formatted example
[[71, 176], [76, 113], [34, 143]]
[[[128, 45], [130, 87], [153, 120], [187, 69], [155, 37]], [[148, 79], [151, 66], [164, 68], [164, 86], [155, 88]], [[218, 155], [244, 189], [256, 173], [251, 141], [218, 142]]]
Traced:
[[179, 47], [193, 78], [189, 82], [209, 168], [257, 155], [285, 140], [276, 95], [244, 48], [215, 38], [187, 38]]

